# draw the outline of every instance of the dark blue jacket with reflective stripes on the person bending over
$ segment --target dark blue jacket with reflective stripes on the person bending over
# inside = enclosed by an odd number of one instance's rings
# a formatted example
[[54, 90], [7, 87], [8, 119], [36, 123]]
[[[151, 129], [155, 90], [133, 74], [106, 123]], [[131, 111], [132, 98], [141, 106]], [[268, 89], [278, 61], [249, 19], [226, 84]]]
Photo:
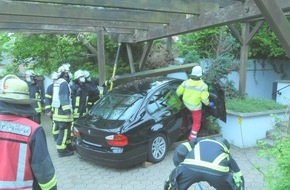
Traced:
[[230, 156], [228, 148], [216, 140], [200, 139], [180, 144], [173, 157], [177, 166], [188, 165], [198, 167], [199, 170], [212, 170], [217, 172], [239, 172], [240, 169]]

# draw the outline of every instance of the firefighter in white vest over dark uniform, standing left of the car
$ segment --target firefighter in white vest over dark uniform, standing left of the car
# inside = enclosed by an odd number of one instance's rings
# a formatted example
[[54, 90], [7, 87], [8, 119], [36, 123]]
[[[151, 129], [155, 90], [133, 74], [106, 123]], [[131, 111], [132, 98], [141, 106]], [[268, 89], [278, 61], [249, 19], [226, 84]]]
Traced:
[[70, 69], [67, 64], [58, 68], [59, 78], [53, 85], [52, 103], [53, 121], [59, 130], [56, 141], [56, 149], [59, 157], [72, 156], [74, 154], [71, 144], [71, 126], [73, 121]]

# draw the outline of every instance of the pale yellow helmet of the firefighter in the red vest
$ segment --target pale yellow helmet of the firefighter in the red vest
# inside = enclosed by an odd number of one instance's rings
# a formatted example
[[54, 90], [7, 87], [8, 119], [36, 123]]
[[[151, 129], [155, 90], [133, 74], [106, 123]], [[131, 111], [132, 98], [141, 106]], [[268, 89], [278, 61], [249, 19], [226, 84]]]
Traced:
[[0, 101], [11, 104], [33, 104], [27, 83], [15, 75], [7, 75], [0, 81]]

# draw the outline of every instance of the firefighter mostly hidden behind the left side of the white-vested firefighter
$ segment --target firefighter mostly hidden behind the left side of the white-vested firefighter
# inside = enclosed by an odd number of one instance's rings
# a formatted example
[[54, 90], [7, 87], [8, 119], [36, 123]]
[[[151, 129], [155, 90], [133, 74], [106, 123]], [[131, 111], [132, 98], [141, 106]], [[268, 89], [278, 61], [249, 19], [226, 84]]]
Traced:
[[[50, 84], [45, 92], [45, 113], [48, 117], [52, 119], [53, 116], [53, 109], [51, 107], [52, 103], [52, 93], [53, 93], [53, 84], [56, 82], [56, 80], [59, 78], [59, 74], [57, 72], [53, 72], [51, 74], [51, 80], [52, 84]], [[52, 135], [53, 139], [56, 142], [57, 141], [57, 136], [58, 136], [59, 130], [57, 126], [55, 125], [55, 122], [52, 120]]]

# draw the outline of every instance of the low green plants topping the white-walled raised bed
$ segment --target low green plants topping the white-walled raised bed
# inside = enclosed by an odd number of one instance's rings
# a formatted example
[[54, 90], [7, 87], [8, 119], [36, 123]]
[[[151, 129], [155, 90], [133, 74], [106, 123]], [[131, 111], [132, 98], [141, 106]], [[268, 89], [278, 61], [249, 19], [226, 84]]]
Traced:
[[241, 113], [263, 112], [268, 110], [284, 109], [287, 106], [278, 104], [274, 100], [243, 98], [229, 99], [226, 101], [227, 110]]

